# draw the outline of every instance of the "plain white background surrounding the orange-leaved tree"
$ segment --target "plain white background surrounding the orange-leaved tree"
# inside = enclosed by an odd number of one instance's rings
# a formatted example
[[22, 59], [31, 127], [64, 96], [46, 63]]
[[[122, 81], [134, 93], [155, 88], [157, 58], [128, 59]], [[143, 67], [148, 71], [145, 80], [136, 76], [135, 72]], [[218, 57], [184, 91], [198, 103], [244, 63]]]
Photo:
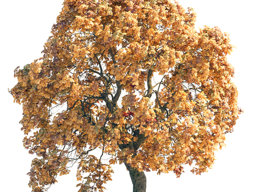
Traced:
[[[217, 161], [213, 169], [202, 175], [190, 172], [176, 178], [174, 173], [156, 175], [147, 172], [147, 192], [153, 191], [256, 191], [255, 187], [255, 5], [253, 0], [180, 0], [185, 7], [193, 7], [197, 12], [196, 27], [218, 26], [228, 32], [231, 44], [237, 49], [228, 57], [235, 67], [233, 81], [238, 87], [239, 107], [244, 109], [235, 126], [235, 131], [227, 135], [227, 147], [216, 153]], [[19, 124], [22, 107], [13, 103], [7, 92], [17, 79], [13, 70], [21, 68], [42, 57], [41, 51], [51, 27], [61, 11], [62, 0], [13, 0], [1, 2], [1, 191], [31, 191], [28, 187], [33, 155], [23, 148], [23, 133]], [[75, 167], [76, 168], [76, 167]], [[113, 167], [113, 181], [106, 191], [132, 191], [129, 172], [124, 165]], [[76, 171], [58, 177], [58, 183], [49, 191], [77, 191]]]

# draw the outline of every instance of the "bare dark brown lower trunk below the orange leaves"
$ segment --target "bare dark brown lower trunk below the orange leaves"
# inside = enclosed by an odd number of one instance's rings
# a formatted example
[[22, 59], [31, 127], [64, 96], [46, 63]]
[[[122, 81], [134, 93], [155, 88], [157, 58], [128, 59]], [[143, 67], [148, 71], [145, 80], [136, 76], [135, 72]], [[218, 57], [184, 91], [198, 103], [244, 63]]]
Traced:
[[130, 177], [133, 184], [133, 192], [146, 192], [146, 175], [144, 172], [140, 172], [131, 165], [124, 163], [127, 170], [130, 173]]

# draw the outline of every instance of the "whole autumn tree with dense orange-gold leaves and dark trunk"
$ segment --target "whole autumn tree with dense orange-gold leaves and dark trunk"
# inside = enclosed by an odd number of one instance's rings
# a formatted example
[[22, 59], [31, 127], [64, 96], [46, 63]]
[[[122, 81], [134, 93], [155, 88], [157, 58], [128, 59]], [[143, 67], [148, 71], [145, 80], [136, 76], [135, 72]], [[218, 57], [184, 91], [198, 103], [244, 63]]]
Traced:
[[134, 192], [146, 191], [143, 171], [211, 168], [242, 110], [228, 34], [196, 31], [195, 21], [193, 9], [168, 0], [64, 1], [43, 57], [15, 69], [10, 91], [23, 106], [23, 144], [38, 156], [33, 191], [76, 162], [81, 192], [103, 191], [117, 162]]

